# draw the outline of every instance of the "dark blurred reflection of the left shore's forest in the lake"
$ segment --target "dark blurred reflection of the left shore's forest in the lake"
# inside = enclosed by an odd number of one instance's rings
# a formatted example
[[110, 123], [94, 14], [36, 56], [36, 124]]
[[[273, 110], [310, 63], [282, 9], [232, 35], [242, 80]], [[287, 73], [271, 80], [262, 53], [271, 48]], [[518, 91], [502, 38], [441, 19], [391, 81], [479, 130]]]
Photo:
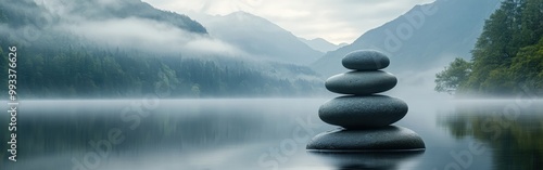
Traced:
[[[130, 112], [125, 117], [121, 114], [124, 105], [27, 110], [17, 117], [17, 152], [28, 157], [54, 154], [80, 157], [80, 154], [94, 151], [90, 141], [108, 140], [112, 129], [121, 130], [125, 138], [121, 144], [112, 145], [119, 154], [146, 154], [146, 149], [199, 152], [290, 138], [292, 133], [286, 132], [296, 126], [294, 120], [276, 120], [281, 118], [278, 114], [238, 113], [237, 109], [220, 109], [227, 106], [192, 105], [153, 110], [148, 116]], [[0, 117], [1, 125], [8, 125], [8, 119]], [[132, 130], [134, 125], [138, 126]], [[9, 134], [1, 133], [0, 140], [9, 141]], [[8, 147], [0, 144], [1, 151]]]

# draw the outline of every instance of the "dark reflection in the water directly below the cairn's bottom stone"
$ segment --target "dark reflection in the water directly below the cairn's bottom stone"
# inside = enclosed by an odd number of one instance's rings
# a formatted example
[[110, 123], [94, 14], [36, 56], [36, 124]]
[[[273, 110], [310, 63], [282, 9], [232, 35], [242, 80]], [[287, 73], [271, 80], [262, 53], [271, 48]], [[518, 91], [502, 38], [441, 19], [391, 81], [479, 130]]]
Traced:
[[337, 170], [353, 169], [403, 169], [411, 161], [422, 155], [419, 152], [368, 152], [368, 153], [316, 153], [310, 155], [337, 167]]

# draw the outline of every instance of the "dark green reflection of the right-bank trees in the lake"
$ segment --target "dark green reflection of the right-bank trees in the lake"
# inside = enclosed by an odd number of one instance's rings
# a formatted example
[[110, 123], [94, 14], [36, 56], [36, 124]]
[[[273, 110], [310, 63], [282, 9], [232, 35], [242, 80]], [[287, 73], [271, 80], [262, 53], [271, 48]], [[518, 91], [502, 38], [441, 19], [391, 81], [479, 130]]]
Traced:
[[442, 117], [455, 138], [472, 136], [493, 152], [494, 169], [543, 169], [543, 103], [506, 109], [515, 102], [459, 104]]

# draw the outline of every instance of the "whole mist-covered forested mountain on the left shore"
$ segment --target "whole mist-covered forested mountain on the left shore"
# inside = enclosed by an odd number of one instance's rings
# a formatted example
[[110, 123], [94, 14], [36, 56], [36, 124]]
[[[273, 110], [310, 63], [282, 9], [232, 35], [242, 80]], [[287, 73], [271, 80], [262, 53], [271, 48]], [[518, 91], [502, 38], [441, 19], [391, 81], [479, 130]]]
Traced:
[[[305, 96], [323, 91], [321, 79], [307, 66], [247, 56], [190, 17], [138, 0], [0, 3], [0, 56], [16, 47], [16, 77], [25, 82], [17, 84], [17, 95], [24, 99]], [[8, 81], [7, 71], [0, 76]], [[8, 89], [0, 87], [2, 96]]]

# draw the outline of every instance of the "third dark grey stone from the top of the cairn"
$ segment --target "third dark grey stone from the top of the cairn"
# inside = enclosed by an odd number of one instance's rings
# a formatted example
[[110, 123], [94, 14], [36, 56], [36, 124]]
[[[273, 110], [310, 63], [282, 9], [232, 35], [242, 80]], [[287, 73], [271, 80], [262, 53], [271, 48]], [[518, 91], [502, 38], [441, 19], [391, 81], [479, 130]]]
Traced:
[[407, 114], [407, 104], [386, 95], [340, 96], [320, 105], [318, 116], [329, 125], [348, 129], [386, 127]]

